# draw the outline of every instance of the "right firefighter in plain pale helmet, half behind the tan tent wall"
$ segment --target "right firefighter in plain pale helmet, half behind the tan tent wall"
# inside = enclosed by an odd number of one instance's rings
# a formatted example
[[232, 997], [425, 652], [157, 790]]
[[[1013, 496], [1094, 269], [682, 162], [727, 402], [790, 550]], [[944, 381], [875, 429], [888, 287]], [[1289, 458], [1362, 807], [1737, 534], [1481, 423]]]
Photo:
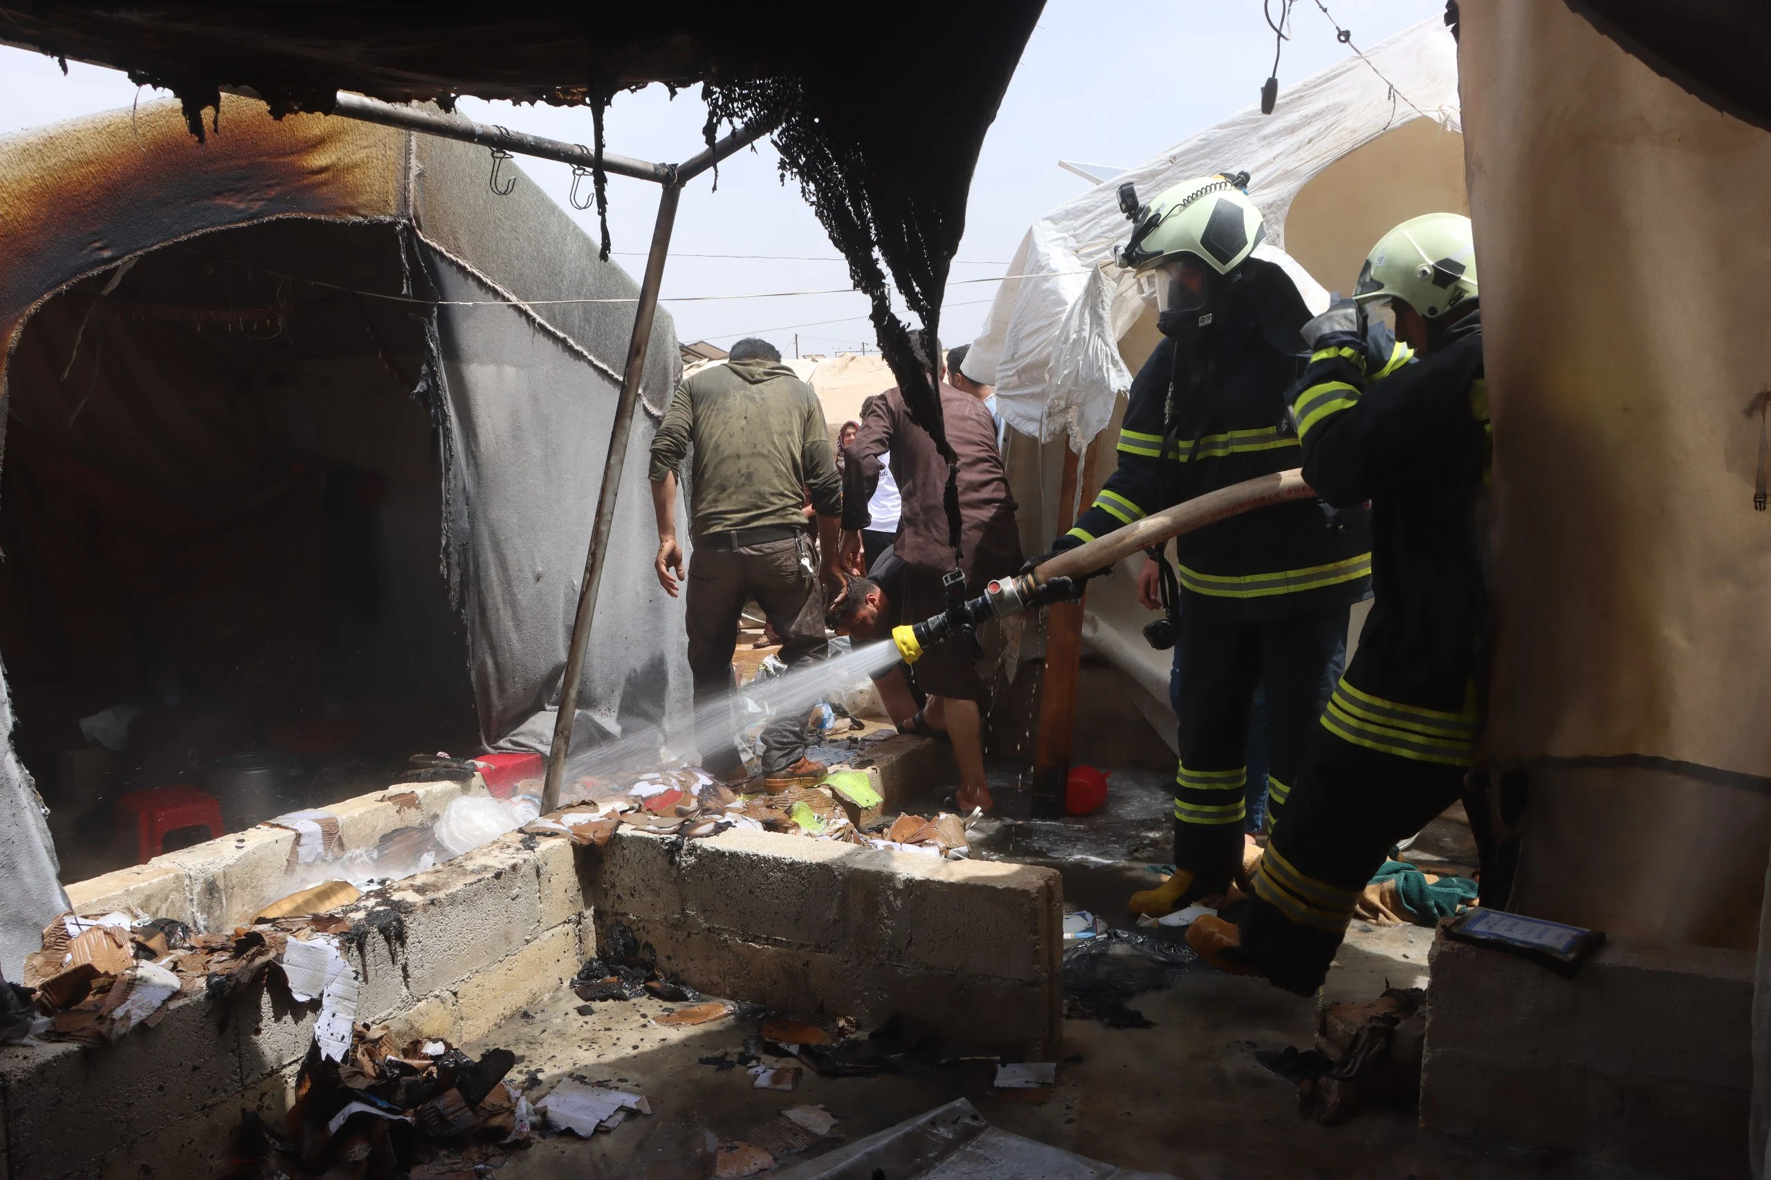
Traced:
[[[1364, 319], [1383, 305], [1419, 360], [1380, 379]], [[1353, 299], [1303, 337], [1312, 356], [1293, 402], [1303, 478], [1328, 503], [1371, 503], [1376, 601], [1240, 925], [1201, 918], [1187, 941], [1226, 971], [1309, 996], [1387, 849], [1458, 799], [1473, 764], [1489, 425], [1470, 220], [1397, 225]]]

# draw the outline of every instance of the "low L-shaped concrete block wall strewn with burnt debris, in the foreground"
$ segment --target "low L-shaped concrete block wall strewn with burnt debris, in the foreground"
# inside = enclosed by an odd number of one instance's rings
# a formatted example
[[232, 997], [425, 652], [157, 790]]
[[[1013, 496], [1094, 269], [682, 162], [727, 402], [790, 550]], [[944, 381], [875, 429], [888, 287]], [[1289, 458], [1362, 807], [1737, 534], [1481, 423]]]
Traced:
[[[769, 833], [622, 833], [606, 849], [512, 833], [340, 912], [358, 1019], [397, 1040], [483, 1038], [565, 985], [595, 923], [620, 920], [710, 994], [862, 1022], [907, 1012], [956, 1044], [1041, 1060], [1057, 1047], [1050, 870]], [[243, 1111], [287, 1114], [315, 1013], [260, 978], [181, 999], [115, 1045], [0, 1049], [0, 1180], [220, 1176]]]

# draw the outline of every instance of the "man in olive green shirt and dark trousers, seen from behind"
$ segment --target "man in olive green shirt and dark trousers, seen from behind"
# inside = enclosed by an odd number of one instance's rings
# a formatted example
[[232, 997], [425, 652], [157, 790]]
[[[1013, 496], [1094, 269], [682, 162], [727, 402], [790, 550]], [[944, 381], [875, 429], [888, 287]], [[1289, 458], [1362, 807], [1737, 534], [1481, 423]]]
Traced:
[[[677, 386], [652, 439], [652, 507], [659, 526], [653, 567], [675, 597], [682, 578], [677, 542], [677, 471], [689, 457], [689, 670], [694, 673], [701, 760], [744, 778], [731, 741], [731, 654], [739, 615], [754, 597], [781, 636], [790, 668], [824, 659], [824, 594], [843, 586], [838, 532], [843, 485], [824, 408], [811, 386], [781, 363], [767, 340], [739, 340], [724, 365], [708, 365]], [[818, 517], [818, 546], [806, 494]], [[723, 707], [721, 707], [723, 703]], [[714, 709], [708, 709], [714, 705]], [[825, 767], [806, 758], [802, 716], [776, 718], [762, 735], [769, 788], [815, 783]]]

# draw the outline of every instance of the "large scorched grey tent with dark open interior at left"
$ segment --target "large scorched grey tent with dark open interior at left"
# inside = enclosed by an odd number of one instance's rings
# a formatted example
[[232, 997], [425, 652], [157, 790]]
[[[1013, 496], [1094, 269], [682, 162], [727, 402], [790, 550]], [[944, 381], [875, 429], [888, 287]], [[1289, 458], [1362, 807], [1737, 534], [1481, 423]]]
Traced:
[[[225, 705], [147, 774], [356, 714], [386, 742], [453, 726], [453, 753], [553, 726], [638, 283], [524, 177], [491, 195], [483, 149], [221, 119], [204, 145], [175, 103], [0, 142], [7, 973], [66, 905], [30, 774], [53, 804], [81, 716], [142, 705], [133, 742]], [[678, 370], [661, 312], [611, 555], [648, 576], [604, 586], [586, 741], [689, 707], [643, 462]]]

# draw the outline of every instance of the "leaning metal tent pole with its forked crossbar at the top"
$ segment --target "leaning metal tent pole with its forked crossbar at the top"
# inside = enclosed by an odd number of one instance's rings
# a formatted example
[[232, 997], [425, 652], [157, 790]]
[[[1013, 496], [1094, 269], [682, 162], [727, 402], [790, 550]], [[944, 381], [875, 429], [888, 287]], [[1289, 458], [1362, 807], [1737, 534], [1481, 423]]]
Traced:
[[[538, 135], [524, 135], [473, 122], [462, 115], [446, 115], [423, 106], [398, 106], [361, 94], [338, 94], [335, 115], [375, 122], [386, 128], [404, 128], [436, 135], [462, 144], [480, 144], [494, 151], [519, 156], [554, 159], [579, 168], [597, 163], [595, 152], [583, 144], [561, 144]], [[659, 216], [652, 227], [652, 250], [646, 253], [646, 271], [639, 283], [639, 303], [634, 308], [634, 333], [627, 342], [627, 369], [622, 374], [622, 397], [615, 406], [615, 425], [609, 429], [609, 454], [602, 462], [602, 491], [597, 494], [597, 516], [590, 532], [590, 549], [584, 555], [584, 576], [579, 581], [577, 615], [572, 620], [572, 643], [567, 648], [565, 677], [560, 682], [560, 712], [554, 719], [553, 748], [547, 755], [547, 778], [542, 787], [542, 811], [560, 806], [560, 781], [565, 776], [567, 755], [572, 751], [572, 723], [577, 719], [577, 686], [584, 675], [584, 652], [590, 648], [590, 627], [597, 613], [597, 590], [602, 585], [602, 567], [609, 553], [609, 533], [615, 532], [615, 507], [622, 493], [622, 471], [627, 466], [627, 445], [634, 425], [634, 406], [639, 400], [639, 377], [645, 374], [646, 353], [652, 347], [652, 321], [657, 317], [659, 287], [664, 282], [664, 259], [669, 253], [671, 229], [677, 225], [677, 200], [682, 186], [707, 172], [721, 159], [749, 147], [774, 129], [772, 122], [746, 124], [712, 147], [701, 149], [682, 163], [648, 163], [629, 156], [602, 154], [602, 170], [639, 181], [652, 181], [659, 193]]]

